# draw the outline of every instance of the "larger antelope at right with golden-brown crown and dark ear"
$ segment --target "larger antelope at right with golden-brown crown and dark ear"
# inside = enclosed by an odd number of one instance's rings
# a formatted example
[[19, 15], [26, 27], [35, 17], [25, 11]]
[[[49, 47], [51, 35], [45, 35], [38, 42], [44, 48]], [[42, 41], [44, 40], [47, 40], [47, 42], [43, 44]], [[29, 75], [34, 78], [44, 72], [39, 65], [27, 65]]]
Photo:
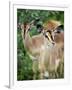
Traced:
[[[52, 40], [55, 42], [55, 45], [50, 49], [50, 51], [47, 51], [49, 56], [45, 54], [48, 56], [48, 60], [45, 59], [45, 63], [47, 64], [49, 73], [56, 73], [60, 64], [60, 67], [62, 68], [64, 63], [64, 31], [62, 30], [63, 25], [61, 25], [61, 22], [59, 21], [50, 20], [44, 23], [43, 28], [45, 31], [51, 33], [50, 35], [52, 35]], [[62, 73], [62, 70], [60, 70], [60, 72]]]

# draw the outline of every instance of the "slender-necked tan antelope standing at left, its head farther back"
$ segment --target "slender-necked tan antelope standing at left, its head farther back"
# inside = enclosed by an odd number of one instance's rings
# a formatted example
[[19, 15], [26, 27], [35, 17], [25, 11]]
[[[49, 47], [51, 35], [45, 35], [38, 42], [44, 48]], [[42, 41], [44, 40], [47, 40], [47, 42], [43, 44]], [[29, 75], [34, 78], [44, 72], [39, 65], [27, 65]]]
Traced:
[[24, 47], [27, 49], [27, 52], [30, 56], [30, 58], [33, 60], [33, 72], [34, 72], [34, 77], [33, 79], [36, 78], [36, 70], [35, 70], [35, 62], [38, 63], [38, 68], [40, 72], [40, 78], [43, 79], [44, 73], [45, 73], [45, 54], [46, 52], [50, 52], [50, 48], [53, 47], [53, 40], [50, 37], [49, 32], [42, 32], [38, 35], [30, 37], [29, 35], [29, 29], [30, 29], [30, 24], [22, 24], [21, 25], [22, 29], [22, 38], [23, 38], [23, 44]]

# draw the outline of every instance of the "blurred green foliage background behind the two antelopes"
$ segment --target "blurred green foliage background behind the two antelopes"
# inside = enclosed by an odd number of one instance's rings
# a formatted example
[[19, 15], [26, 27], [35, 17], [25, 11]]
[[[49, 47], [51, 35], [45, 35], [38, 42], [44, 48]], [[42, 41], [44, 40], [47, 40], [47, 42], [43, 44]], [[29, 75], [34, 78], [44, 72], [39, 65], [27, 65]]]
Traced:
[[[33, 80], [32, 60], [24, 48], [20, 25], [36, 18], [41, 24], [52, 19], [64, 24], [64, 11], [17, 9], [17, 80]], [[36, 27], [32, 29], [30, 35], [36, 34]]]

